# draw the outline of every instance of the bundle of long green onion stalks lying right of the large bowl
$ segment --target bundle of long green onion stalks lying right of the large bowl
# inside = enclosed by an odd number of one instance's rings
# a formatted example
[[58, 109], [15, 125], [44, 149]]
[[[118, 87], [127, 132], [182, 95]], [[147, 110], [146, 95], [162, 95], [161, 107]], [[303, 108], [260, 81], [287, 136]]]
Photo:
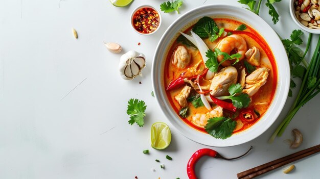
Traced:
[[[310, 36], [311, 35], [309, 35], [306, 52], [309, 49], [310, 39], [311, 39]], [[300, 86], [299, 93], [296, 96], [294, 103], [293, 103], [287, 117], [283, 119], [283, 121], [278, 126], [275, 133], [273, 133], [271, 138], [269, 139], [270, 143], [273, 142], [273, 140], [275, 140], [275, 138], [277, 136], [280, 137], [283, 134], [286, 127], [288, 126], [288, 124], [292, 120], [293, 116], [296, 114], [296, 112], [298, 112], [299, 109], [303, 105], [305, 105], [310, 99], [312, 99], [314, 96], [316, 96], [320, 92], [320, 89], [319, 89], [319, 85], [320, 85], [320, 55], [319, 55], [320, 52], [319, 52], [319, 49], [320, 49], [320, 36], [319, 36], [316, 48], [314, 50], [313, 56], [311, 58], [310, 64], [308, 65], [307, 71], [304, 75], [302, 84]], [[305, 57], [306, 52], [303, 55], [303, 57], [301, 58], [300, 62], [303, 61], [303, 58]], [[312, 81], [314, 83], [311, 83]]]

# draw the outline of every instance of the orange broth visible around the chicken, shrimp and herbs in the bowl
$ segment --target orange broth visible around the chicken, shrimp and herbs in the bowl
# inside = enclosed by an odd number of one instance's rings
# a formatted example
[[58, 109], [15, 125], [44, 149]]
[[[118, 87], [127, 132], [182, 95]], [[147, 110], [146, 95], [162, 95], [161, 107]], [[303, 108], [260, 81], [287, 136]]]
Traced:
[[[246, 24], [247, 29], [244, 31], [234, 31], [234, 29], [236, 29], [237, 27], [239, 27], [239, 25], [242, 24], [241, 22], [233, 20], [233, 19], [227, 19], [227, 18], [214, 18], [214, 20], [217, 23], [219, 28], [225, 28], [226, 32], [232, 32], [233, 34], [237, 34], [237, 35], [242, 36], [247, 43], [247, 49], [249, 49], [253, 46], [256, 46], [257, 48], [259, 48], [260, 55], [261, 55], [260, 56], [261, 64], [260, 64], [260, 66], [258, 66], [258, 68], [259, 67], [267, 67], [270, 69], [268, 79], [267, 79], [267, 82], [265, 83], [265, 85], [263, 85], [259, 89], [259, 91], [252, 96], [252, 101], [250, 102], [250, 104], [247, 108], [240, 109], [240, 111], [241, 110], [252, 110], [252, 111], [255, 110], [260, 114], [260, 118], [261, 118], [265, 114], [267, 109], [269, 108], [271, 101], [273, 99], [273, 96], [275, 95], [275, 91], [276, 91], [276, 87], [277, 87], [277, 79], [278, 79], [277, 78], [277, 65], [275, 62], [275, 58], [273, 57], [273, 54], [271, 52], [271, 49], [268, 46], [268, 44], [266, 43], [266, 41], [263, 39], [263, 37], [257, 31], [255, 31], [253, 28], [249, 27], [249, 25]], [[184, 33], [190, 34], [191, 29], [192, 29], [192, 27], [187, 29]], [[215, 47], [216, 43], [221, 39], [222, 38], [218, 38], [214, 42], [210, 42], [208, 39], [203, 39], [203, 40], [208, 45], [208, 47], [210, 49], [213, 49]], [[172, 46], [170, 47], [170, 50], [169, 50], [167, 57], [166, 57], [166, 64], [165, 64], [165, 71], [164, 71], [165, 72], [165, 75], [164, 75], [164, 86], [165, 87], [167, 87], [172, 80], [177, 79], [182, 72], [186, 71], [186, 69], [195, 65], [197, 62], [199, 62], [199, 60], [202, 61], [202, 57], [197, 49], [194, 49], [192, 47], [187, 47], [186, 45], [184, 45], [191, 52], [191, 62], [186, 68], [178, 69], [176, 66], [174, 66], [172, 64], [172, 54], [178, 45], [181, 45], [181, 43], [179, 43], [175, 40], [174, 43], [172, 44]], [[241, 60], [239, 63], [234, 65], [234, 67], [236, 67], [238, 70], [238, 74], [240, 74], [239, 68], [241, 66], [242, 67], [244, 66], [243, 65], [244, 60], [245, 59]], [[201, 65], [204, 67], [203, 62]], [[221, 67], [219, 67], [219, 70], [220, 69], [221, 69]], [[238, 79], [239, 79], [239, 76], [240, 75], [238, 75]], [[208, 83], [209, 83], [209, 81], [207, 81], [207, 82], [204, 81], [204, 82], [201, 82], [201, 85], [207, 85]], [[177, 115], [179, 115], [180, 105], [177, 103], [177, 101], [174, 99], [174, 97], [181, 91], [182, 88], [184, 88], [184, 86], [166, 92], [167, 97], [169, 98], [170, 104], [171, 104], [172, 108], [174, 109], [174, 111], [177, 113]], [[181, 120], [184, 121], [186, 124], [188, 124], [193, 129], [207, 133], [207, 132], [205, 132], [205, 130], [203, 128], [198, 127], [191, 122], [191, 116], [196, 113], [207, 113], [210, 111], [207, 108], [205, 108], [204, 106], [195, 108], [190, 103], [188, 103], [188, 107], [189, 107], [188, 117], [187, 118], [180, 117]], [[225, 112], [226, 111], [223, 110], [223, 114], [225, 114]], [[257, 117], [256, 114], [255, 114], [255, 117]], [[254, 122], [245, 122], [245, 121], [242, 121], [240, 119], [240, 117], [238, 116], [237, 118], [234, 119], [237, 121], [237, 126], [236, 126], [236, 129], [234, 130], [233, 134], [239, 133], [241, 131], [248, 129], [250, 126], [254, 125], [260, 118], [258, 118]], [[266, 120], [268, 120], [268, 119], [266, 119]], [[243, 124], [242, 127], [240, 127], [241, 123]]]

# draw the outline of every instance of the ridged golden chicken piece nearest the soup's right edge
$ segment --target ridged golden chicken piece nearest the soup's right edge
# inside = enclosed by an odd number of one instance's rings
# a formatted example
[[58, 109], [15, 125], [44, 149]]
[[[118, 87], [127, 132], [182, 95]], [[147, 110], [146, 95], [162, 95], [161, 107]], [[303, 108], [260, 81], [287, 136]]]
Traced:
[[245, 78], [245, 87], [242, 92], [253, 96], [267, 82], [269, 69], [266, 67], [258, 68]]

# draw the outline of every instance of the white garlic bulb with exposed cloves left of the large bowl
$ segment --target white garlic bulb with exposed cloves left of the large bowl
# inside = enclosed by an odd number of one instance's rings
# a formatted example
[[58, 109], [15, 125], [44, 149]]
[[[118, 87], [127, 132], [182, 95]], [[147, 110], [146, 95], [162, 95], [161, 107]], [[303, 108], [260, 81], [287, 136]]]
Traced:
[[130, 50], [120, 58], [119, 71], [125, 80], [132, 80], [141, 75], [141, 70], [146, 66], [146, 59], [143, 54]]

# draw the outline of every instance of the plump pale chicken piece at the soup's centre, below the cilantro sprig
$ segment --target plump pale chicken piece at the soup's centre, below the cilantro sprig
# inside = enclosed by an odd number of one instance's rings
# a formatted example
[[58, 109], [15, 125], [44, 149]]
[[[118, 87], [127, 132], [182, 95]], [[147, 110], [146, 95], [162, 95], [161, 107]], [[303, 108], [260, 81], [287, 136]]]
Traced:
[[238, 80], [238, 71], [233, 66], [222, 68], [212, 79], [210, 90], [213, 96], [228, 95], [230, 85], [236, 84]]

